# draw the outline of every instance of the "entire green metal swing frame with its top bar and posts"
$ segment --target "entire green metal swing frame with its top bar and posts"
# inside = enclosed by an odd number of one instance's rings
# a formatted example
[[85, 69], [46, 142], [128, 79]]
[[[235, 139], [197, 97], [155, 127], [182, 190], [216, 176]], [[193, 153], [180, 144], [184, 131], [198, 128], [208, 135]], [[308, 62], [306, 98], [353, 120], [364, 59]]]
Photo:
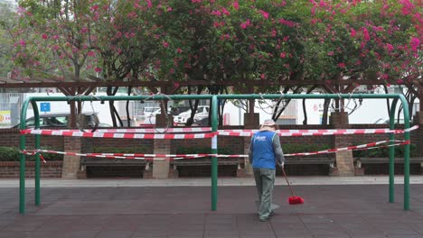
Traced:
[[[316, 98], [316, 99], [341, 99], [341, 98], [390, 98], [393, 99], [390, 108], [390, 129], [395, 128], [394, 118], [398, 102], [403, 105], [404, 114], [404, 140], [409, 141], [409, 106], [406, 98], [403, 95], [387, 94], [387, 95], [368, 95], [368, 94], [322, 94], [322, 95], [156, 95], [156, 96], [33, 96], [24, 101], [21, 111], [21, 124], [20, 128], [26, 128], [26, 111], [28, 106], [33, 106], [33, 114], [35, 119], [35, 128], [40, 128], [40, 116], [38, 112], [37, 102], [57, 102], [57, 101], [126, 101], [126, 100], [188, 100], [188, 99], [211, 99], [211, 131], [217, 132], [218, 129], [218, 104], [220, 99], [277, 99], [277, 98]], [[390, 134], [390, 139], [394, 139], [394, 134]], [[35, 149], [40, 149], [41, 135], [35, 135]], [[26, 139], [24, 135], [20, 136], [20, 149], [25, 150]], [[217, 135], [211, 138], [211, 153], [218, 154]], [[217, 183], [218, 183], [218, 159], [217, 157], [211, 158], [211, 210], [217, 210]], [[41, 184], [40, 184], [40, 155], [35, 154], [35, 206], [41, 205]], [[394, 202], [394, 150], [390, 147], [390, 191], [389, 201]], [[404, 150], [404, 210], [409, 210], [409, 144], [405, 145]], [[19, 213], [25, 213], [25, 155], [20, 155], [20, 180], [19, 180]]]

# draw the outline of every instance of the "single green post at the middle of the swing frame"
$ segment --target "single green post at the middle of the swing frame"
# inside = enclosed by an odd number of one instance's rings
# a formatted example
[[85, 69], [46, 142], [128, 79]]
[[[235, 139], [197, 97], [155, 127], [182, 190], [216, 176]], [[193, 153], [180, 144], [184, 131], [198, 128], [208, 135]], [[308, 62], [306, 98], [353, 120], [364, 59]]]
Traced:
[[[218, 127], [218, 98], [211, 97], [211, 132], [216, 133]], [[211, 153], [217, 154], [217, 134], [211, 138]], [[217, 178], [218, 178], [218, 158], [211, 157], [211, 211], [217, 209]]]

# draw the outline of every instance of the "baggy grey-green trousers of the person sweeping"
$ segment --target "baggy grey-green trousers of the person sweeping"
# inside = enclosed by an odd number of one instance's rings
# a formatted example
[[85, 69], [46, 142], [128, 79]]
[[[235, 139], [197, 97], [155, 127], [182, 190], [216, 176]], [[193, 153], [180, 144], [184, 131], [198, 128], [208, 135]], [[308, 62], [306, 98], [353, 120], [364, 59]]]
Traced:
[[258, 192], [258, 216], [267, 218], [272, 212], [273, 186], [275, 185], [275, 169], [253, 169]]

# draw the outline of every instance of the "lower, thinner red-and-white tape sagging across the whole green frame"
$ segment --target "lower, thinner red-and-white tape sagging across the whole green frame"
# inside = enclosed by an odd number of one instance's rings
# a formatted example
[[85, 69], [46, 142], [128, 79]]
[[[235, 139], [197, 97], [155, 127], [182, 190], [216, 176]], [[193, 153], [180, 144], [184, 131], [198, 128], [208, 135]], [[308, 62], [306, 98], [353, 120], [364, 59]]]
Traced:
[[[381, 144], [388, 142], [396, 142], [393, 144], [388, 144], [380, 146]], [[324, 153], [334, 153], [338, 151], [357, 151], [357, 150], [370, 150], [378, 147], [390, 147], [409, 144], [409, 141], [381, 141], [381, 142], [371, 142], [367, 144], [348, 146], [337, 149], [330, 149], [324, 151], [313, 151], [313, 152], [300, 152], [300, 153], [290, 153], [285, 154], [284, 156], [307, 156], [315, 154], [324, 154]], [[248, 157], [245, 154], [145, 154], [145, 153], [76, 153], [76, 152], [64, 152], [64, 151], [49, 151], [49, 150], [37, 150], [37, 151], [21, 151], [24, 154], [34, 155], [35, 153], [56, 153], [56, 154], [65, 154], [65, 155], [74, 155], [74, 156], [85, 156], [85, 157], [97, 157], [97, 158], [107, 158], [107, 159], [127, 159], [127, 160], [182, 160], [182, 159], [194, 159], [202, 157], [221, 157], [221, 158], [242, 158]], [[41, 154], [40, 154], [41, 155]]]

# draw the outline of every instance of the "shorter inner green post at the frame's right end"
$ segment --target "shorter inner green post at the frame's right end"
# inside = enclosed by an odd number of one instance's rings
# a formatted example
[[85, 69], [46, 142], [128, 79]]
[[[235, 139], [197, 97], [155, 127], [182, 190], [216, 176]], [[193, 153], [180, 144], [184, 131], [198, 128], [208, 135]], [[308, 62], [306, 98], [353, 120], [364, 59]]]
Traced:
[[[395, 129], [395, 111], [397, 108], [398, 98], [395, 98], [390, 106], [390, 130]], [[390, 144], [393, 144], [395, 139], [394, 133], [390, 133]], [[390, 158], [390, 203], [395, 202], [395, 148], [390, 146], [389, 149]]]

